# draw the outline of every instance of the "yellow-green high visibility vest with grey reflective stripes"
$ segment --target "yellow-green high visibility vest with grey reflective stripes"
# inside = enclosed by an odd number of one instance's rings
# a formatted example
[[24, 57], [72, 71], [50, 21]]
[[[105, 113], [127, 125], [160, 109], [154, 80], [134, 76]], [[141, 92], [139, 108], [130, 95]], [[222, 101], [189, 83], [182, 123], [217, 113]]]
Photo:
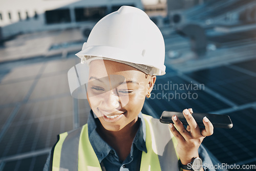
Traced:
[[[140, 170], [179, 170], [177, 140], [169, 131], [168, 124], [160, 123], [148, 115], [142, 115], [146, 124], [146, 149], [142, 152]], [[88, 124], [59, 135], [52, 149], [50, 170], [100, 171], [101, 166], [89, 141]]]

